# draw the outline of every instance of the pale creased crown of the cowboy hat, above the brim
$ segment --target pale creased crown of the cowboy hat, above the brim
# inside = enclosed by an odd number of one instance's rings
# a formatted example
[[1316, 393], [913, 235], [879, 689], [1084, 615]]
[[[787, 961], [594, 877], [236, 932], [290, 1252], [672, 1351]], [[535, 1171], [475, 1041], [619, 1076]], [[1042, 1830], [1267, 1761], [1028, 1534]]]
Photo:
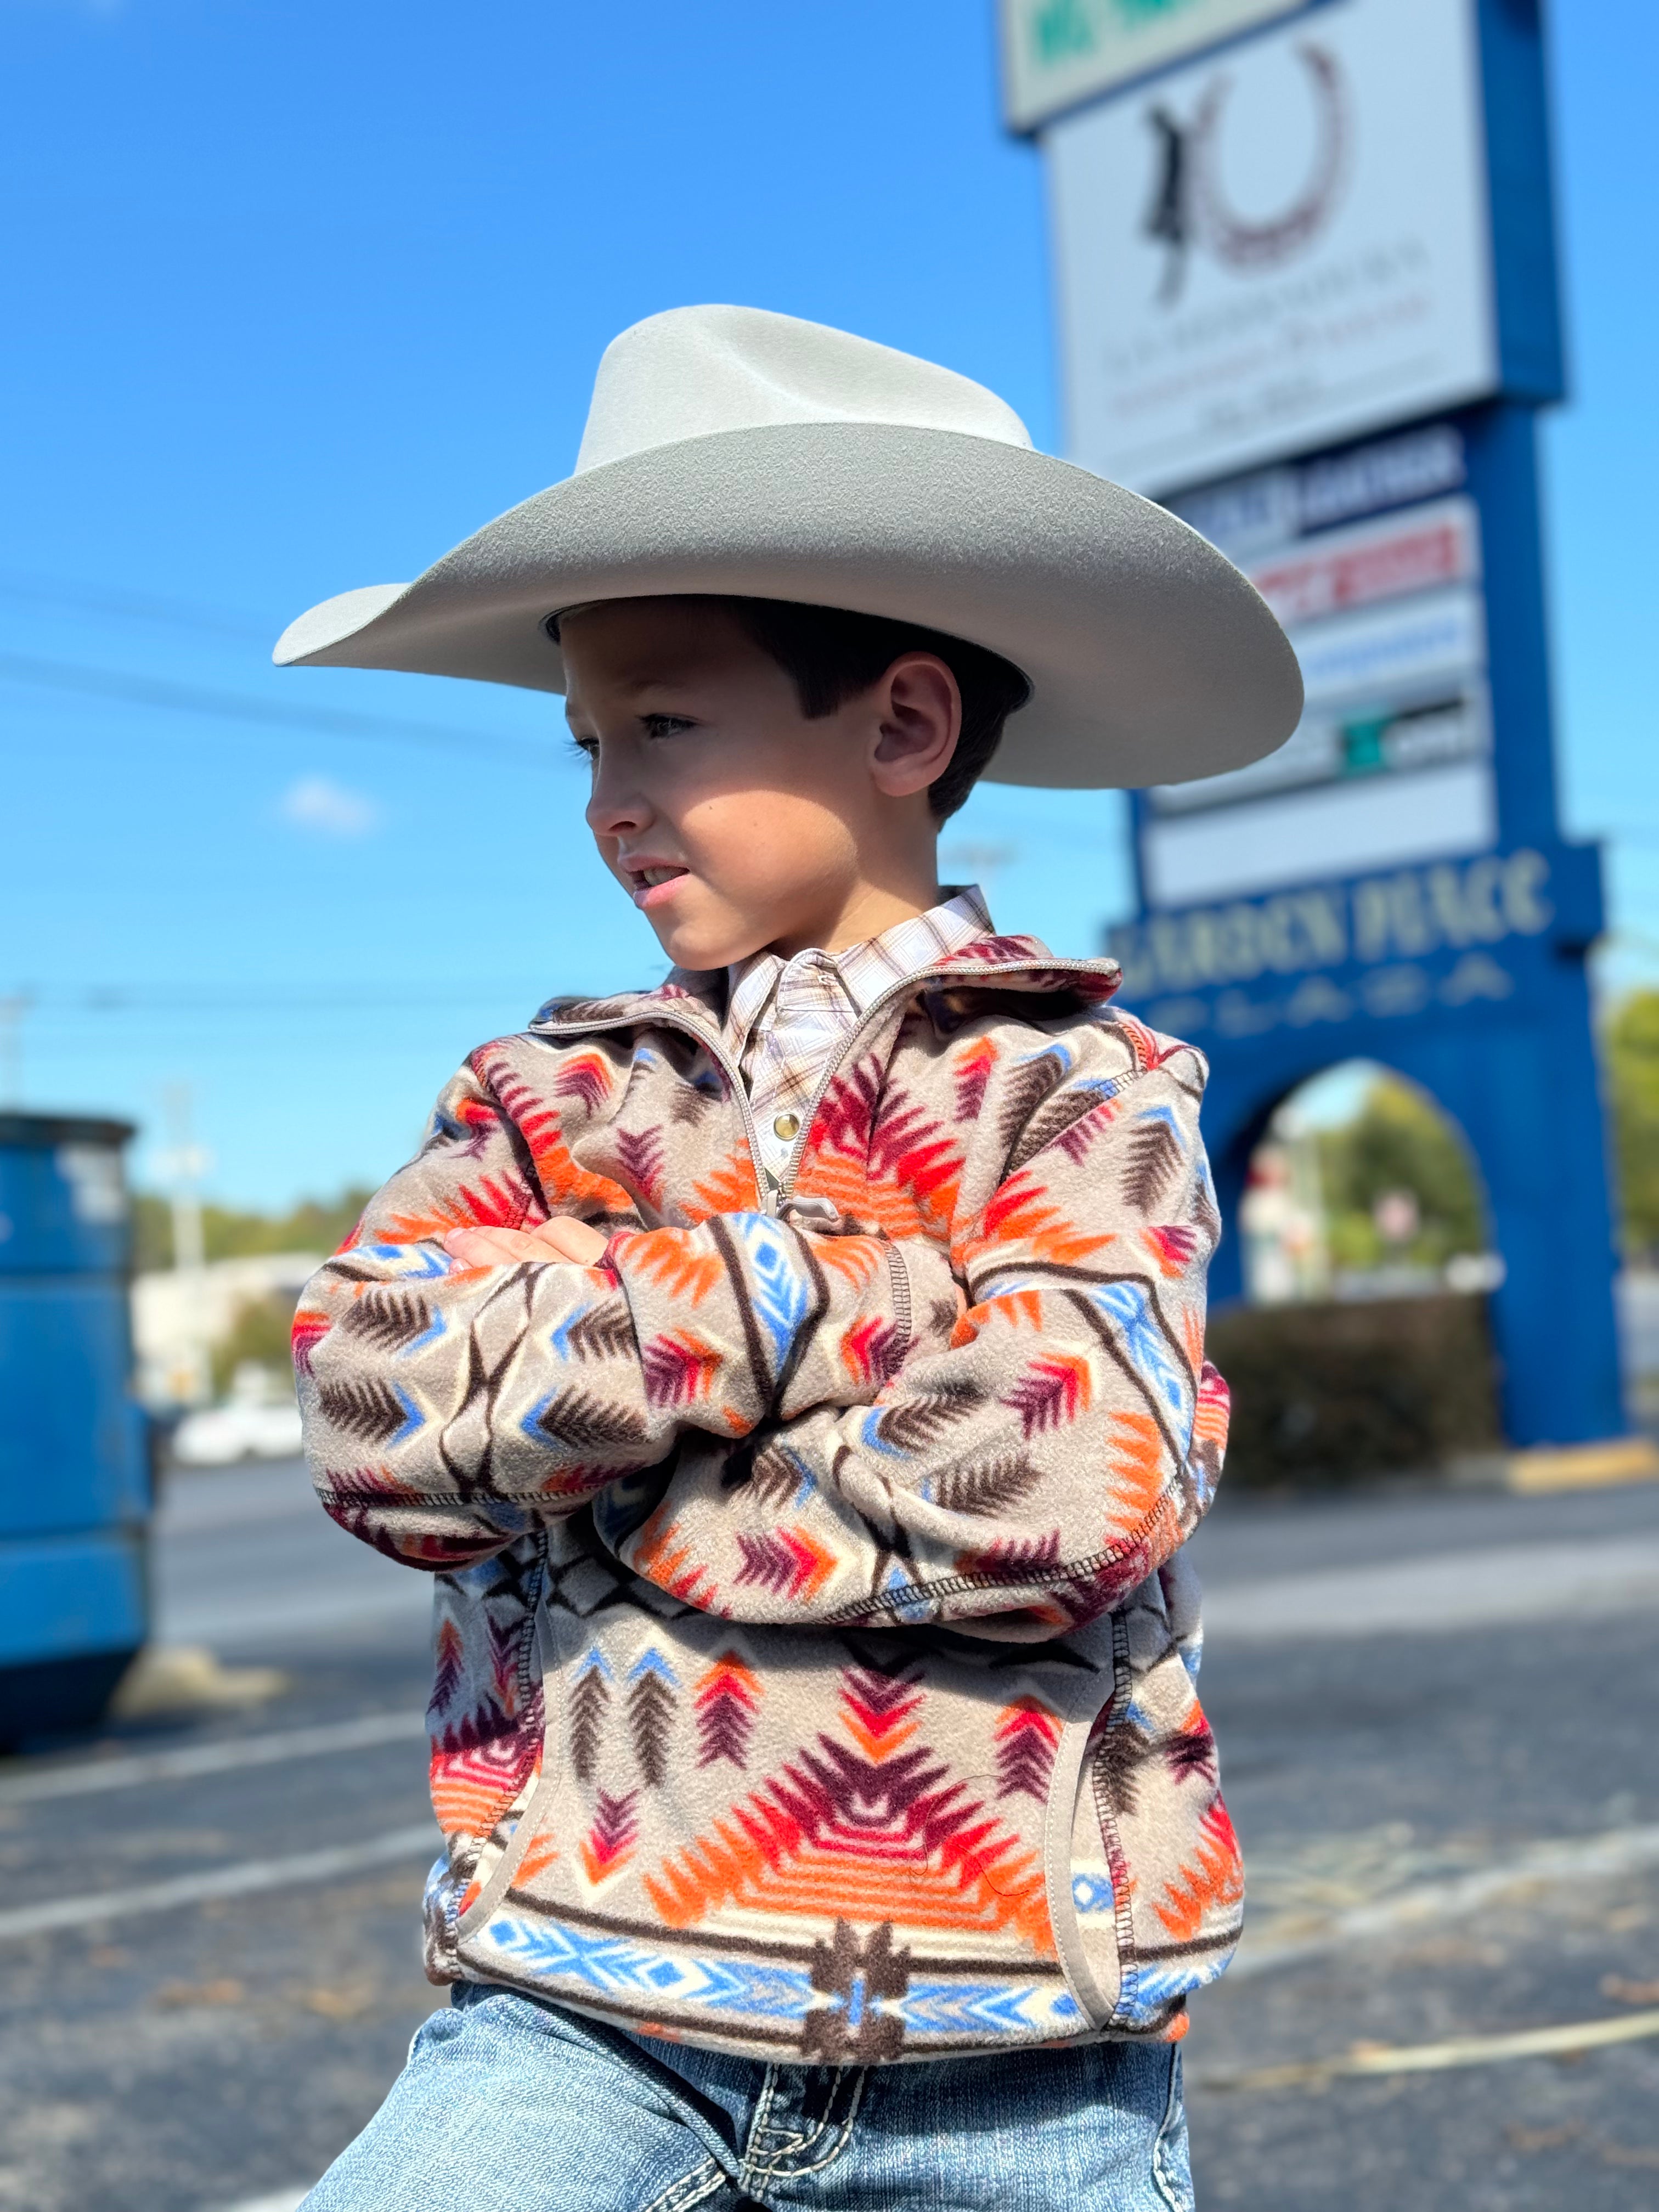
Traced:
[[889, 422], [1031, 445], [995, 392], [916, 354], [763, 307], [670, 307], [604, 349], [575, 473], [776, 422]]

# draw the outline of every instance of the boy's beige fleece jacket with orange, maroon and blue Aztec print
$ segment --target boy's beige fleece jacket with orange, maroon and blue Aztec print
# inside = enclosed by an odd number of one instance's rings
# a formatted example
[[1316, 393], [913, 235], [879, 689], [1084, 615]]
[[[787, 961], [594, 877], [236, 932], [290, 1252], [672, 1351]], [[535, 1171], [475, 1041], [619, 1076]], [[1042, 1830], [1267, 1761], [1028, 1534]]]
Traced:
[[[316, 1486], [436, 1577], [436, 1982], [794, 2064], [1183, 2033], [1243, 1889], [1179, 1553], [1219, 1223], [1206, 1064], [1115, 987], [896, 984], [772, 1210], [723, 975], [553, 1002], [314, 1276]], [[604, 1259], [440, 1241], [549, 1214]]]

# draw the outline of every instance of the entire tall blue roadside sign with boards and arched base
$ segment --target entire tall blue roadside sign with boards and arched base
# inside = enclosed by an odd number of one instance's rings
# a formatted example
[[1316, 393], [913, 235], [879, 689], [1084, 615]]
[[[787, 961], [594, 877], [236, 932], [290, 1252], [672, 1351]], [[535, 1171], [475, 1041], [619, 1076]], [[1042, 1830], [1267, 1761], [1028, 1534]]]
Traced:
[[[1624, 1427], [1535, 416], [1562, 336], [1535, 0], [1004, 0], [1048, 168], [1068, 453], [1254, 580], [1307, 712], [1133, 796], [1126, 995], [1210, 1055], [1223, 1210], [1270, 1115], [1385, 1062], [1460, 1121], [1517, 1444]], [[1214, 1290], [1237, 1292], [1239, 1239]]]

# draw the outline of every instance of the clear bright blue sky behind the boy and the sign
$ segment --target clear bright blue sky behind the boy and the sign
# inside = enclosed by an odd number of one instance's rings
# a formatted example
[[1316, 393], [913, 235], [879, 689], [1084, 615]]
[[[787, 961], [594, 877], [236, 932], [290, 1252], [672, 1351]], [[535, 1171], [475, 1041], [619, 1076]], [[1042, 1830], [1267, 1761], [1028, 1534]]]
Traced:
[[[1562, 7], [1555, 49], [1564, 792], [1571, 830], [1617, 838], [1628, 982], [1659, 973], [1659, 24]], [[991, 4], [0, 0], [0, 995], [31, 998], [27, 1104], [148, 1133], [184, 1082], [217, 1194], [376, 1181], [462, 1051], [659, 960], [586, 845], [555, 701], [281, 675], [272, 637], [564, 476], [606, 338], [664, 305], [845, 323], [1053, 445], [1042, 175], [998, 128]], [[1006, 925], [1091, 951], [1124, 900], [1117, 810], [984, 787], [947, 858]]]

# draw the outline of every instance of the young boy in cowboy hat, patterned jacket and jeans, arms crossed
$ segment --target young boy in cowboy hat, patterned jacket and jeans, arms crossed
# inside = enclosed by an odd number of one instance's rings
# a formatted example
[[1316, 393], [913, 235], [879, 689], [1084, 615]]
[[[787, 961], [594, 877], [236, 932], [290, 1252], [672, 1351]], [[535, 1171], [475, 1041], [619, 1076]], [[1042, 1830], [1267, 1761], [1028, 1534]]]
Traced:
[[327, 1511], [436, 1577], [451, 1984], [307, 2205], [1188, 2205], [1206, 1071], [936, 841], [993, 757], [1270, 750], [1272, 617], [978, 385], [703, 307], [276, 657], [564, 690], [675, 962], [473, 1053], [299, 1312]]

